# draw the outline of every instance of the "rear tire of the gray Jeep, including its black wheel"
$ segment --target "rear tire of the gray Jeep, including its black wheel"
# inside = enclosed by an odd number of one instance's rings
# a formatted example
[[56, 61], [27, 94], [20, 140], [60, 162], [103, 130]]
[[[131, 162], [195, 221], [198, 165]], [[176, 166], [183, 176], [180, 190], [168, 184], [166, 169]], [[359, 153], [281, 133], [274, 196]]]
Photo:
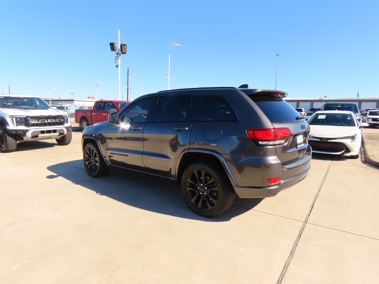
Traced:
[[204, 217], [215, 217], [224, 213], [232, 206], [236, 197], [224, 169], [202, 162], [187, 167], [182, 175], [181, 186], [188, 207]]

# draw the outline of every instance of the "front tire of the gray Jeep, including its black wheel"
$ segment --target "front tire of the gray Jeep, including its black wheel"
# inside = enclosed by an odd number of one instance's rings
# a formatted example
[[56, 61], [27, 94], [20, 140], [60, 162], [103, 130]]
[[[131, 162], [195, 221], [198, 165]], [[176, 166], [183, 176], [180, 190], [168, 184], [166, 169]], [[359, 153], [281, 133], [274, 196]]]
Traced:
[[88, 143], [83, 150], [83, 164], [88, 175], [99, 178], [109, 173], [110, 169], [106, 165], [97, 145]]

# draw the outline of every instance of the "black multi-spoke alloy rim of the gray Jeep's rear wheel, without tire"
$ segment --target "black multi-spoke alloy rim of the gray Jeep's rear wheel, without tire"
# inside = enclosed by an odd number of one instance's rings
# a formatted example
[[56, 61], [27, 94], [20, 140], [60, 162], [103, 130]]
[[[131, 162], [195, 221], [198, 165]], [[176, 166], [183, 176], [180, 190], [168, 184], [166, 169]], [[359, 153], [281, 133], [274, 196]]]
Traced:
[[187, 178], [186, 190], [189, 200], [200, 210], [215, 207], [220, 198], [220, 185], [206, 170], [194, 170]]

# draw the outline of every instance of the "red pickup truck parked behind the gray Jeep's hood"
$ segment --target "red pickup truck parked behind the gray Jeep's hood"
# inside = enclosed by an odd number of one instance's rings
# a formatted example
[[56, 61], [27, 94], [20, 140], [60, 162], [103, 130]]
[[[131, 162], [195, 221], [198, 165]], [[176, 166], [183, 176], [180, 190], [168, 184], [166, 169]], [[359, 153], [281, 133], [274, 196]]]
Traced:
[[130, 101], [95, 101], [92, 109], [76, 109], [75, 122], [80, 124], [81, 129], [98, 122], [108, 120], [110, 112], [119, 112]]

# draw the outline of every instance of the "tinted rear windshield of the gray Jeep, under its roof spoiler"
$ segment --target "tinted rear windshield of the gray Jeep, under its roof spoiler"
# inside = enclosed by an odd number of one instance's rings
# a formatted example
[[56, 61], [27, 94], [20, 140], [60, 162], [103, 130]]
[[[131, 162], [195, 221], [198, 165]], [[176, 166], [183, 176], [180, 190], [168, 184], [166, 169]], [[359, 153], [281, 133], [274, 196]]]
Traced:
[[296, 122], [299, 112], [281, 97], [269, 94], [251, 94], [249, 98], [263, 111], [271, 123]]

